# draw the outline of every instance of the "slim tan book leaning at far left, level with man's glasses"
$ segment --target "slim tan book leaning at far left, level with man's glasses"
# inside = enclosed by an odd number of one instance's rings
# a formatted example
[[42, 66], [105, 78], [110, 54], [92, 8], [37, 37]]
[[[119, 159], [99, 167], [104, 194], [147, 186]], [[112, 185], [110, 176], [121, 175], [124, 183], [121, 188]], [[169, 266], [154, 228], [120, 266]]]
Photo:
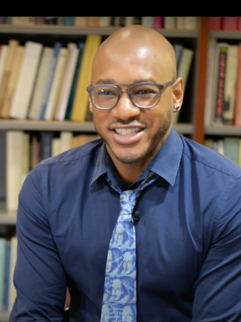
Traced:
[[18, 46], [16, 49], [16, 57], [12, 66], [12, 73], [10, 74], [9, 83], [5, 90], [5, 96], [3, 97], [3, 103], [1, 106], [1, 117], [3, 119], [8, 119], [10, 116], [10, 108], [12, 106], [12, 100], [14, 99], [14, 92], [16, 90], [16, 85], [20, 74], [20, 68], [23, 63], [24, 53], [25, 47]]

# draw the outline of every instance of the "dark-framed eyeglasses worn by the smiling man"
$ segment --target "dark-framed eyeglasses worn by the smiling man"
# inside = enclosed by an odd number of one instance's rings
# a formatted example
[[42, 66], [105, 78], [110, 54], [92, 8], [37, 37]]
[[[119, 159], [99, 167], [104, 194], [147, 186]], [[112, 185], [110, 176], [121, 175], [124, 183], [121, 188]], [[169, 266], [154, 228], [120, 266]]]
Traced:
[[162, 90], [171, 86], [174, 82], [175, 80], [165, 84], [122, 84], [123, 86], [131, 85], [125, 90], [119, 89], [117, 85], [98, 84], [87, 87], [87, 92], [89, 92], [93, 105], [100, 110], [115, 108], [122, 92], [128, 92], [130, 100], [138, 108], [154, 108], [160, 101]]

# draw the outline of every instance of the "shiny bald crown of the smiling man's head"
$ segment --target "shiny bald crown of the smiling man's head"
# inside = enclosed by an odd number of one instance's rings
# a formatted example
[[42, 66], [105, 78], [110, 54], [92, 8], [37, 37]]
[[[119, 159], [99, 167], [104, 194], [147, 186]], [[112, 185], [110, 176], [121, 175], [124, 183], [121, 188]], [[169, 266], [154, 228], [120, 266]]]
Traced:
[[126, 63], [133, 66], [144, 62], [145, 66], [148, 62], [156, 65], [163, 82], [175, 79], [175, 52], [170, 42], [154, 29], [141, 25], [125, 27], [111, 34], [100, 45], [92, 66], [92, 79], [96, 78], [100, 66]]

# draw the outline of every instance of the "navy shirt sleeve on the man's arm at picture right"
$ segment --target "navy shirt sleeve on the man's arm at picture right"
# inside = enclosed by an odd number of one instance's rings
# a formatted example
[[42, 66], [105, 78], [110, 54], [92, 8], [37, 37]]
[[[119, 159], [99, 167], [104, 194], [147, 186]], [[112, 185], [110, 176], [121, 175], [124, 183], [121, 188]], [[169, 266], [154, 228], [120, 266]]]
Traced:
[[240, 178], [230, 179], [213, 216], [212, 243], [194, 288], [192, 322], [240, 322]]

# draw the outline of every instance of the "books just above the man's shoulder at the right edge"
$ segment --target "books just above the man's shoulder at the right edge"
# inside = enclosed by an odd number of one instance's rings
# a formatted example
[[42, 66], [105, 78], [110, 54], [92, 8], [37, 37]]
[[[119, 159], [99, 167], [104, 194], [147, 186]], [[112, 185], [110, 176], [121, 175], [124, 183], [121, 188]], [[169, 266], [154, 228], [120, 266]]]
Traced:
[[226, 136], [218, 140], [206, 138], [204, 145], [241, 166], [241, 138], [234, 136]]

